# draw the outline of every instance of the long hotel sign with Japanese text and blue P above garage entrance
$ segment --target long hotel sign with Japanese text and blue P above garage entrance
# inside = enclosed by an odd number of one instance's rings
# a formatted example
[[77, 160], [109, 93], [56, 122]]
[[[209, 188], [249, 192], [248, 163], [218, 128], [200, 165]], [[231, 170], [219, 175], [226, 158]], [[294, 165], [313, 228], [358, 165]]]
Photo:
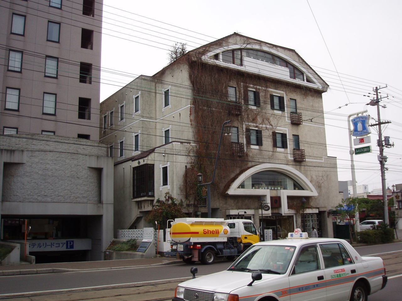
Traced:
[[38, 239], [29, 241], [29, 252], [91, 250], [90, 238]]

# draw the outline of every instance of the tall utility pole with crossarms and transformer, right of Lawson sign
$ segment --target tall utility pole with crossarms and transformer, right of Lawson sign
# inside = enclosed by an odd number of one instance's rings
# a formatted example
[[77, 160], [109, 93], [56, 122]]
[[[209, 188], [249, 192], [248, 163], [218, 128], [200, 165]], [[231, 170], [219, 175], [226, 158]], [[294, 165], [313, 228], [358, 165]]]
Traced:
[[[375, 92], [375, 99], [372, 99], [370, 101], [370, 106], [377, 106], [377, 118], [378, 118], [378, 123], [376, 124], [371, 124], [370, 126], [378, 126], [378, 147], [379, 147], [379, 156], [378, 161], [379, 161], [379, 165], [381, 167], [381, 184], [382, 184], [382, 198], [384, 200], [384, 223], [385, 224], [390, 224], [390, 220], [388, 218], [388, 200], [387, 200], [387, 187], [386, 187], [386, 179], [385, 179], [385, 163], [387, 162], [388, 157], [384, 156], [384, 141], [382, 140], [382, 130], [381, 130], [381, 125], [382, 124], [387, 124], [387, 123], [391, 123], [390, 121], [383, 121], [381, 122], [381, 116], [380, 116], [380, 112], [379, 112], [379, 107], [380, 104], [379, 102], [381, 101], [381, 99], [383, 98], [388, 98], [388, 96], [386, 97], [378, 97], [378, 90], [379, 89], [383, 89], [388, 87], [387, 85], [385, 87], [375, 87], [375, 89], [373, 89], [373, 91]], [[383, 108], [385, 108], [385, 106], [381, 106]]]

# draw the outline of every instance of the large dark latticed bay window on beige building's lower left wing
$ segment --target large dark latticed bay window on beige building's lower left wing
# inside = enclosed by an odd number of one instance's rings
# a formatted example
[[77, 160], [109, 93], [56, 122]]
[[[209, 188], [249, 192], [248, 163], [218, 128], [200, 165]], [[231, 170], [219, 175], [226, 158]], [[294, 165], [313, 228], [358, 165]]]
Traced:
[[133, 167], [133, 199], [137, 197], [153, 197], [154, 165], [142, 164]]

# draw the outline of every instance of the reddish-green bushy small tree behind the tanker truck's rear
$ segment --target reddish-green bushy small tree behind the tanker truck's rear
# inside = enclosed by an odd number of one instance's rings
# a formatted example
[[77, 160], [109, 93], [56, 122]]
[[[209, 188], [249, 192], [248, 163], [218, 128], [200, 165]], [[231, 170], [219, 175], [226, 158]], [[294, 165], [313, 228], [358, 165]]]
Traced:
[[151, 224], [158, 222], [162, 229], [166, 229], [168, 220], [186, 217], [182, 209], [183, 201], [178, 201], [170, 193], [166, 192], [164, 200], [156, 200], [155, 205], [152, 206], [152, 211], [146, 216], [145, 221]]

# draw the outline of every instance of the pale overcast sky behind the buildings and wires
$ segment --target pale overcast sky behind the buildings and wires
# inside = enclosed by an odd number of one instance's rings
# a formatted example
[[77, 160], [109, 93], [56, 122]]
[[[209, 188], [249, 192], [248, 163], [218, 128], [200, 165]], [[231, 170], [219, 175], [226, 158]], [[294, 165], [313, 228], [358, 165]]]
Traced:
[[[153, 75], [167, 63], [174, 42], [188, 50], [238, 32], [295, 49], [330, 85], [323, 94], [328, 155], [338, 158], [338, 178], [351, 179], [347, 115], [363, 110], [375, 85], [388, 84], [381, 95], [381, 119], [391, 120], [384, 133], [394, 148], [388, 156], [387, 185], [402, 183], [401, 1], [309, 0], [330, 55], [306, 0], [295, 1], [111, 1], [104, 0], [100, 101], [137, 75]], [[154, 20], [151, 20], [154, 19]], [[164, 23], [162, 23], [164, 22]], [[394, 97], [392, 97], [394, 96]], [[348, 106], [344, 106], [348, 104]], [[339, 106], [342, 108], [337, 109]], [[376, 107], [368, 114], [377, 118]], [[376, 132], [373, 153], [355, 156], [356, 177], [369, 189], [381, 188]]]

